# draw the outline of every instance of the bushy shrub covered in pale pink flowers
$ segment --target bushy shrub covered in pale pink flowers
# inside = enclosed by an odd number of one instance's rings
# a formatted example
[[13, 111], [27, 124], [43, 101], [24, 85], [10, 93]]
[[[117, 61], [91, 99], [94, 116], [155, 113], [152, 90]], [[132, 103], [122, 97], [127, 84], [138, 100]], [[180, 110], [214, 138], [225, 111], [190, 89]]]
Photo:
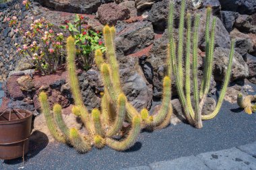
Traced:
[[22, 43], [15, 44], [17, 52], [26, 57], [43, 75], [54, 73], [63, 63], [63, 34], [55, 32], [53, 24], [44, 17], [34, 20], [30, 30], [19, 28], [17, 17], [9, 20], [9, 26], [17, 26], [14, 30], [22, 35]]

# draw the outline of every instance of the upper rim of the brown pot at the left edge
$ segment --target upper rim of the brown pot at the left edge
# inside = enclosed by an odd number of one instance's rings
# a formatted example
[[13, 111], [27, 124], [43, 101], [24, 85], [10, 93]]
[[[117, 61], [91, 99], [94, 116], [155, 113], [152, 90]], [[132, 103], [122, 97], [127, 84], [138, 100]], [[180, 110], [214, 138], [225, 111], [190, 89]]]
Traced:
[[3, 112], [1, 112], [1, 114], [4, 114], [5, 112], [14, 112], [13, 110], [18, 110], [19, 112], [25, 112], [26, 114], [28, 114], [28, 116], [25, 116], [24, 118], [20, 118], [18, 120], [5, 120], [5, 121], [0, 121], [0, 125], [5, 125], [5, 124], [17, 124], [20, 122], [26, 122], [26, 120], [32, 118], [32, 112], [28, 111], [28, 110], [22, 110], [19, 108], [9, 108], [7, 110], [4, 110]]

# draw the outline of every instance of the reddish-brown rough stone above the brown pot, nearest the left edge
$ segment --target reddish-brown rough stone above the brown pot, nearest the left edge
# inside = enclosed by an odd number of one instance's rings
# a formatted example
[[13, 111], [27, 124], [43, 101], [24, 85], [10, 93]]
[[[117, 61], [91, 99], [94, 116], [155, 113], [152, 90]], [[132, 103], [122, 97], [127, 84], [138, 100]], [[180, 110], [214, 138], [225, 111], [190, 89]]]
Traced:
[[24, 99], [25, 95], [22, 93], [22, 90], [20, 89], [20, 85], [17, 81], [17, 79], [20, 78], [20, 76], [11, 76], [7, 80], [6, 83], [6, 93], [9, 94], [9, 97], [14, 100], [22, 100]]

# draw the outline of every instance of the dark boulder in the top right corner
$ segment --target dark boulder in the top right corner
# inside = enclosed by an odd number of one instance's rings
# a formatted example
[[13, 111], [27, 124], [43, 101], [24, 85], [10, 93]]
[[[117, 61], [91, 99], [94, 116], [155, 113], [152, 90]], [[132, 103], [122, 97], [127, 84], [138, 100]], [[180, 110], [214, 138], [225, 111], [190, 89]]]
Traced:
[[236, 11], [241, 14], [251, 15], [256, 11], [255, 0], [219, 0], [224, 11]]

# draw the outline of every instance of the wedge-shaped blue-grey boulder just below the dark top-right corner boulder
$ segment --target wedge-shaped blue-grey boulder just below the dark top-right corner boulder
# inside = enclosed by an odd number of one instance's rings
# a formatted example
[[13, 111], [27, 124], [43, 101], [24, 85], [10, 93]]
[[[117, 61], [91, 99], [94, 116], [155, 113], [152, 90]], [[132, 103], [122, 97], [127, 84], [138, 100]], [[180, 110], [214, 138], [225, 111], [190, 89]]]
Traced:
[[224, 27], [230, 33], [233, 30], [234, 22], [236, 22], [236, 18], [238, 17], [237, 12], [233, 11], [220, 11], [220, 18]]

